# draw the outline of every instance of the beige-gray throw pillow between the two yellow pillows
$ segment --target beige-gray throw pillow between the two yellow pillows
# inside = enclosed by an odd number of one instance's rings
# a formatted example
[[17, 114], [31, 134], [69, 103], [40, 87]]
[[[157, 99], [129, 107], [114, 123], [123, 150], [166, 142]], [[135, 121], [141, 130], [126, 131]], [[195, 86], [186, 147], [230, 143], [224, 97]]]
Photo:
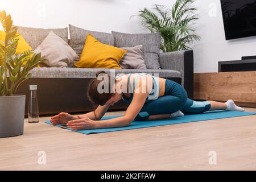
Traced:
[[65, 68], [68, 67], [68, 65], [72, 65], [74, 63], [73, 60], [77, 58], [76, 52], [68, 45], [68, 43], [52, 31], [49, 32], [49, 35], [34, 52], [40, 52], [42, 58], [47, 59], [47, 61], [44, 62], [47, 67]]

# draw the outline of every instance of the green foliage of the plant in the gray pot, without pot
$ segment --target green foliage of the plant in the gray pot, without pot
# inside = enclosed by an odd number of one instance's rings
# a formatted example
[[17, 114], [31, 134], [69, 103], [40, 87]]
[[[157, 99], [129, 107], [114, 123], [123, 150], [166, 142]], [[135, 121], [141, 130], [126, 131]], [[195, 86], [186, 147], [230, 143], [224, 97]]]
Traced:
[[17, 27], [5, 11], [0, 11], [0, 21], [5, 31], [5, 41], [0, 40], [0, 96], [13, 96], [18, 86], [31, 77], [29, 71], [45, 60], [41, 59], [40, 53], [32, 51], [15, 55], [19, 40]]

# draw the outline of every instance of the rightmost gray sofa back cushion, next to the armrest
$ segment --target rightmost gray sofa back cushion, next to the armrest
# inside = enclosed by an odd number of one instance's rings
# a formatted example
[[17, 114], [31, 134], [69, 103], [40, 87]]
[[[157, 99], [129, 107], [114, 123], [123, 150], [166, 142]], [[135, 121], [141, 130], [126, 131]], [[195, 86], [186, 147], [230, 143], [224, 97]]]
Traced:
[[112, 31], [114, 35], [114, 46], [134, 47], [143, 45], [144, 59], [147, 69], [160, 69], [159, 53], [161, 34], [125, 34]]

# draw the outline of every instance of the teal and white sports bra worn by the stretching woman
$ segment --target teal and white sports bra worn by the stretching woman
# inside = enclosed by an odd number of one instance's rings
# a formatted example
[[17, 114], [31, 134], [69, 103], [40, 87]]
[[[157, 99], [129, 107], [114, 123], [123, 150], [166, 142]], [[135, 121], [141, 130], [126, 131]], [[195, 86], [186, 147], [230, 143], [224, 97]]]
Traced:
[[[138, 77], [135, 77], [134, 82], [133, 82], [133, 88], [131, 88], [131, 82], [130, 82], [131, 73], [129, 73], [129, 77], [128, 77], [129, 90], [132, 90], [134, 92], [136, 81], [144, 75], [148, 75], [148, 74], [147, 73], [141, 73], [141, 75], [139, 75]], [[151, 100], [156, 100], [159, 96], [159, 81], [158, 81], [158, 78], [156, 78], [155, 76], [152, 76], [152, 75], [150, 75], [150, 76], [153, 79], [153, 86], [152, 86], [152, 91], [150, 92], [150, 94], [146, 98], [145, 103], [147, 103]], [[130, 94], [131, 94], [130, 98], [125, 98], [125, 97], [122, 96], [122, 100], [125, 101], [125, 102], [130, 103], [133, 100], [133, 93], [130, 93]]]

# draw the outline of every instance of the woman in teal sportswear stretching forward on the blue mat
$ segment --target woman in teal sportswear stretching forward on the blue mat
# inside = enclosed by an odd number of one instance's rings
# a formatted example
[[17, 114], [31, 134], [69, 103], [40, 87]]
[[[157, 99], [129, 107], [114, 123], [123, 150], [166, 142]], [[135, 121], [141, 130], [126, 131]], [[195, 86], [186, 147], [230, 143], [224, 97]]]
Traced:
[[[51, 118], [53, 125], [67, 123], [73, 130], [89, 130], [124, 127], [130, 125], [133, 120], [166, 119], [183, 116], [184, 113], [199, 114], [208, 110], [244, 111], [232, 100], [225, 103], [193, 101], [187, 97], [187, 92], [180, 84], [147, 73], [130, 73], [113, 78], [102, 71], [96, 76], [97, 78], [88, 85], [87, 96], [98, 105], [97, 109], [78, 116], [60, 113]], [[98, 76], [104, 79], [99, 80]], [[111, 84], [111, 80], [114, 84]], [[129, 103], [125, 115], [100, 120], [109, 107], [121, 99]]]

